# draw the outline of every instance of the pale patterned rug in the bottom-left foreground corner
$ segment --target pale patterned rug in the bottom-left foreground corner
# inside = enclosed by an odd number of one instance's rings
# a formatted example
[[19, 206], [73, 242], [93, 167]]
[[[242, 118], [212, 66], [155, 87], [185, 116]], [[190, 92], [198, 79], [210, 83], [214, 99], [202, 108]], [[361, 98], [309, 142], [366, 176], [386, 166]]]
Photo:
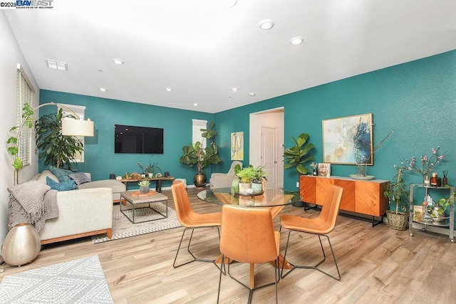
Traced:
[[98, 256], [5, 276], [0, 303], [113, 303]]

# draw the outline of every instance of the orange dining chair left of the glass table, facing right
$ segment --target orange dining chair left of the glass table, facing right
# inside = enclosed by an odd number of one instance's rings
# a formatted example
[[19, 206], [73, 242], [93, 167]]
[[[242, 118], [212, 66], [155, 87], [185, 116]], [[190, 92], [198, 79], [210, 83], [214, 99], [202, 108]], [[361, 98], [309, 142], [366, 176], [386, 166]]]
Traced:
[[[180, 181], [172, 182], [171, 192], [172, 199], [174, 199], [177, 219], [179, 220], [180, 224], [185, 227], [184, 231], [182, 232], [182, 237], [180, 238], [179, 247], [177, 247], [176, 256], [174, 258], [174, 263], [172, 263], [172, 266], [174, 268], [177, 268], [195, 261], [214, 263], [215, 259], [210, 260], [204, 258], [197, 258], [197, 256], [195, 256], [195, 254], [193, 254], [192, 251], [190, 251], [190, 243], [192, 243], [193, 232], [197, 228], [217, 227], [217, 232], [220, 237], [219, 226], [222, 224], [222, 212], [207, 214], [198, 214], [197, 212], [195, 212], [192, 208], [192, 205], [190, 204], [190, 199], [188, 198], [187, 190], [185, 189], [184, 184], [182, 184], [182, 182]], [[177, 256], [179, 255], [180, 251], [180, 246], [182, 245], [182, 240], [184, 239], [185, 232], [187, 230], [192, 231], [192, 234], [190, 234], [190, 240], [188, 242], [187, 251], [190, 253], [193, 259], [185, 263], [176, 265]]]

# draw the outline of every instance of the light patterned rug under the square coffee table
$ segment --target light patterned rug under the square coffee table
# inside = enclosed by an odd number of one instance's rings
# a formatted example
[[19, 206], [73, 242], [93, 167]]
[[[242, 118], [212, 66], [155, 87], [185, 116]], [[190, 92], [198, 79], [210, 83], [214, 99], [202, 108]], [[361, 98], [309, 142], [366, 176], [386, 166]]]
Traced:
[[[145, 206], [147, 206], [147, 204], [145, 204]], [[154, 203], [151, 206], [162, 214], [165, 214], [166, 212], [165, 204]], [[129, 212], [131, 213], [131, 211]], [[129, 238], [130, 236], [139, 236], [140, 234], [150, 234], [151, 232], [180, 227], [180, 223], [177, 220], [176, 211], [170, 207], [168, 207], [167, 219], [163, 219], [160, 214], [157, 214], [155, 211], [149, 208], [142, 208], [135, 211], [135, 220], [137, 219], [140, 221], [143, 221], [145, 219], [157, 220], [132, 224], [132, 222], [128, 220], [125, 215], [122, 214], [122, 212], [120, 212], [120, 205], [114, 205], [112, 238], [108, 239], [108, 236], [106, 234], [99, 234], [98, 236], [92, 236], [92, 242], [103, 243], [105, 241], [125, 239]]]

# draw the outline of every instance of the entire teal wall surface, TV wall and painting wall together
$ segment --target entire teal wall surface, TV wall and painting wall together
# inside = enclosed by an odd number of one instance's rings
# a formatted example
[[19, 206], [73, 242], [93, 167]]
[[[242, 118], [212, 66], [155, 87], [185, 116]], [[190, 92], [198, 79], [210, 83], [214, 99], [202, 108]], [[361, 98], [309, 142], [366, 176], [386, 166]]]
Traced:
[[[96, 134], [86, 139], [86, 162], [79, 164], [78, 169], [91, 172], [94, 179], [108, 178], [110, 173], [139, 171], [137, 162], [148, 163], [150, 159], [158, 162], [162, 171], [183, 177], [191, 184], [195, 169], [180, 164], [178, 159], [182, 154], [182, 146], [191, 140], [192, 118], [214, 121], [216, 124], [216, 142], [224, 162], [214, 166], [214, 172], [227, 172], [229, 169], [231, 132], [244, 132], [244, 164], [249, 164], [250, 113], [284, 107], [285, 147], [293, 144], [291, 135], [296, 137], [301, 132], [307, 132], [310, 142], [316, 146], [312, 152], [316, 162], [323, 159], [322, 120], [373, 113], [374, 145], [390, 130], [394, 129], [395, 132], [375, 152], [374, 165], [368, 167], [368, 174], [378, 179], [392, 179], [395, 175], [393, 165], [400, 164], [400, 159], [429, 155], [432, 147], [440, 146], [442, 152], [448, 152], [448, 157], [436, 167], [436, 171], [441, 176], [442, 170], [448, 170], [449, 183], [456, 184], [456, 51], [215, 114], [48, 90], [41, 90], [40, 95], [40, 103], [54, 101], [86, 105], [86, 117], [95, 122]], [[42, 108], [41, 115], [49, 108], [52, 107]], [[163, 127], [165, 154], [114, 154], [115, 124]], [[210, 172], [208, 168], [206, 173], [210, 175]], [[354, 165], [331, 166], [332, 175], [348, 176], [353, 173], [356, 173]], [[405, 181], [421, 182], [421, 176], [410, 173]], [[285, 170], [284, 188], [296, 189], [294, 169]], [[416, 196], [417, 202], [420, 195]]]

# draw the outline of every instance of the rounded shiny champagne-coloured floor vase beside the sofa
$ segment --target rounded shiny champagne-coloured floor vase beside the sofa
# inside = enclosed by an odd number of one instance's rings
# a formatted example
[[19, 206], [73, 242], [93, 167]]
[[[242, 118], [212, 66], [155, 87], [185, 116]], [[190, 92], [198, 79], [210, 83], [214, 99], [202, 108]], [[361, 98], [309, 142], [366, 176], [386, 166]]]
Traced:
[[11, 266], [22, 266], [33, 261], [41, 250], [40, 236], [31, 224], [14, 226], [6, 235], [1, 256]]

